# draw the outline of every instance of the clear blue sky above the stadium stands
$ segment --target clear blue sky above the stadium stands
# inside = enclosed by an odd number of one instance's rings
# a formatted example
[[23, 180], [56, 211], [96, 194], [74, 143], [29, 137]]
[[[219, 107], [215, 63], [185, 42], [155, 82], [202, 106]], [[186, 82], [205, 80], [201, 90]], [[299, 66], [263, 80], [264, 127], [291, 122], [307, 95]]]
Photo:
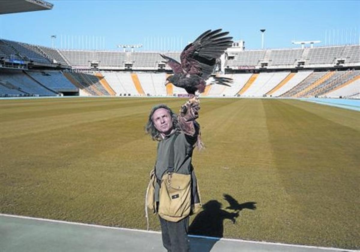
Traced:
[[[0, 37], [37, 45], [117, 50], [180, 50], [207, 29], [223, 28], [246, 49], [359, 43], [360, 1], [120, 1], [48, 0], [50, 11], [0, 15]], [[326, 40], [325, 40], [326, 33]], [[330, 34], [330, 36], [329, 36]], [[91, 41], [91, 42], [90, 42]]]

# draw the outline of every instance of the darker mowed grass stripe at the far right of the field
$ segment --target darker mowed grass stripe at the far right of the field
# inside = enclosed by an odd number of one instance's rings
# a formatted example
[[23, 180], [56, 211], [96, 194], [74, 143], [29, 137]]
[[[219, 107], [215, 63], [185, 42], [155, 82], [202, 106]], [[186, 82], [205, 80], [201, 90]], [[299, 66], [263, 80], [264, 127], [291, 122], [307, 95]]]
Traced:
[[[267, 127], [289, 209], [285, 240], [359, 247], [360, 132], [290, 101], [263, 100]], [[314, 111], [318, 106], [314, 105]], [[321, 109], [333, 110], [330, 106]], [[353, 111], [342, 110], [346, 118]], [[358, 114], [359, 115], [359, 114]], [[299, 211], [300, 209], [300, 211]]]

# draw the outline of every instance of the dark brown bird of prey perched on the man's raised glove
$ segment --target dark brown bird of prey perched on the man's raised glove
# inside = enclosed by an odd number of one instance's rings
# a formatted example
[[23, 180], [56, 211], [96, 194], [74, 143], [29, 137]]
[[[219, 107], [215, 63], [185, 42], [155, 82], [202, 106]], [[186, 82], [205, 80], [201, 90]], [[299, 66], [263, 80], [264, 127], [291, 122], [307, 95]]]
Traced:
[[[180, 54], [181, 63], [160, 54], [174, 74], [166, 79], [166, 84], [172, 83], [177, 87], [184, 88], [189, 94], [195, 95], [205, 91], [206, 80], [212, 74], [220, 56], [226, 49], [231, 47], [233, 37], [225, 37], [229, 32], [221, 32], [222, 29], [208, 30], [202, 33], [194, 42], [190, 43]], [[225, 77], [213, 77], [211, 84], [230, 86], [233, 80]]]

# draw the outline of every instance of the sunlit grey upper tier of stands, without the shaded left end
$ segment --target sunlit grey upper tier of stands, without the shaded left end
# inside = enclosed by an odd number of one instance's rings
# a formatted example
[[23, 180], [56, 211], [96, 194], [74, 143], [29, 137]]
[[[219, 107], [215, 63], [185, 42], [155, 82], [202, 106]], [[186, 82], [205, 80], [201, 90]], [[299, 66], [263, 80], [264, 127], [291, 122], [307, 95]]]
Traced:
[[[119, 51], [84, 51], [61, 50], [66, 60], [75, 68], [90, 68], [91, 63], [98, 63], [99, 69], [157, 70], [163, 59], [160, 52], [119, 52]], [[180, 61], [180, 52], [163, 52]], [[360, 63], [360, 45], [314, 47], [305, 49], [268, 49], [231, 52], [225, 67], [243, 68], [295, 68], [317, 65], [334, 66], [342, 64], [353, 66]], [[339, 62], [339, 60], [341, 62]], [[165, 66], [169, 69], [168, 66]]]

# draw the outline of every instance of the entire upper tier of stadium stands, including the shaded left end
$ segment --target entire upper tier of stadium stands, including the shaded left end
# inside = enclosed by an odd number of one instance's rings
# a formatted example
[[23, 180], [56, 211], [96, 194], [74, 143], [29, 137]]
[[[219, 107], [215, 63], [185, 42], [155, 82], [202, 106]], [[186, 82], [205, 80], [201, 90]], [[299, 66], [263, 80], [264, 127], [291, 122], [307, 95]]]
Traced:
[[[10, 40], [0, 40], [0, 58], [62, 64], [73, 68], [157, 70], [170, 69], [160, 53], [180, 61], [180, 52], [121, 52], [58, 50]], [[326, 46], [305, 49], [267, 49], [228, 52], [223, 65], [228, 69], [359, 66], [360, 45]]]

